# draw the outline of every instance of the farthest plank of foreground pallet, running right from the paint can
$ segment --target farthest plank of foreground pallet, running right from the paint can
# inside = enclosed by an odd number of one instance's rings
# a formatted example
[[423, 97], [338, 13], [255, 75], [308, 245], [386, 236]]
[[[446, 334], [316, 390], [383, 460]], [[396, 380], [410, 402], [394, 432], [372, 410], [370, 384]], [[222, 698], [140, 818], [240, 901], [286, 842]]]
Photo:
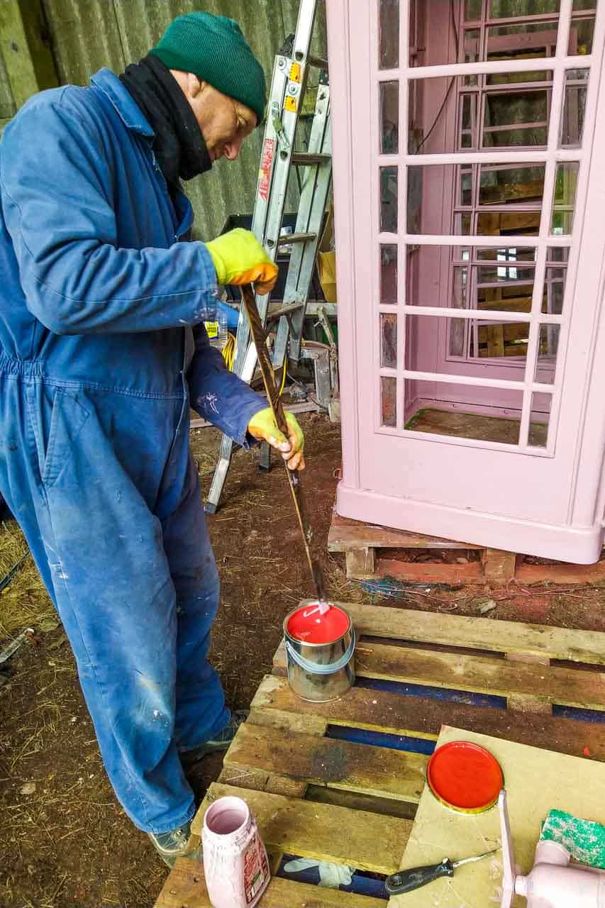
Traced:
[[440, 615], [409, 608], [339, 603], [352, 617], [359, 635], [439, 643], [496, 653], [548, 656], [567, 662], [605, 665], [605, 634], [567, 627], [528, 625], [495, 618]]

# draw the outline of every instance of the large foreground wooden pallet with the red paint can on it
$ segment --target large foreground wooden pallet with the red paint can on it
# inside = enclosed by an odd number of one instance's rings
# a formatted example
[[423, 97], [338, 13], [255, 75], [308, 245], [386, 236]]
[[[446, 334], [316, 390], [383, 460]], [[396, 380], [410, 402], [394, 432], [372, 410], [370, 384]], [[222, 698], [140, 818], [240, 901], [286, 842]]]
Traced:
[[[605, 634], [390, 607], [346, 608], [360, 641], [358, 685], [338, 701], [306, 703], [288, 686], [280, 646], [273, 675], [263, 679], [223, 773], [195, 817], [194, 836], [215, 798], [239, 795], [258, 818], [273, 868], [283, 854], [293, 854], [386, 875], [400, 868], [441, 725], [605, 761], [605, 724], [552, 715], [552, 706], [561, 705], [605, 716], [605, 674], [599, 670]], [[420, 687], [410, 694], [410, 685]], [[439, 689], [458, 699], [437, 698]], [[385, 904], [383, 898], [281, 878], [273, 879], [263, 899], [267, 908]], [[209, 905], [202, 864], [181, 859], [156, 908]]]

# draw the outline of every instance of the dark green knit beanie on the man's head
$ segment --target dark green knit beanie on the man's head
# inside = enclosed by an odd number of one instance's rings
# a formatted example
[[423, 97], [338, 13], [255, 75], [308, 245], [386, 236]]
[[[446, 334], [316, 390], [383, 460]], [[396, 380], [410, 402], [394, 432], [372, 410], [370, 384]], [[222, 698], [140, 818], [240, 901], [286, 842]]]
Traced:
[[263, 120], [263, 67], [233, 19], [212, 13], [179, 15], [150, 53], [168, 69], [194, 73], [219, 92], [251, 107], [259, 123]]

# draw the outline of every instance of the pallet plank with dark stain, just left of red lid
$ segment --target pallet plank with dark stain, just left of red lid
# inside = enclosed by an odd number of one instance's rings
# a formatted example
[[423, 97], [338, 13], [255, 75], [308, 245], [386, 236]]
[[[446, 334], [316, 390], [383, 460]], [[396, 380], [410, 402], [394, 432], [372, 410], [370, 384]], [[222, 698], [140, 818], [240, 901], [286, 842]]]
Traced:
[[428, 757], [386, 747], [293, 735], [246, 722], [224, 758], [231, 768], [253, 767], [297, 782], [344, 788], [418, 804]]

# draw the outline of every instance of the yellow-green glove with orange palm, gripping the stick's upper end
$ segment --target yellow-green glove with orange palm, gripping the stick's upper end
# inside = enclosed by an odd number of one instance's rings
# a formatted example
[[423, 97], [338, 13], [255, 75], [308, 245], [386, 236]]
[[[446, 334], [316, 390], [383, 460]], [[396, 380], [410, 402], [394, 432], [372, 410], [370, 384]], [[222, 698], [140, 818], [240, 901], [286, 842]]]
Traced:
[[277, 265], [271, 261], [263, 246], [249, 230], [237, 227], [206, 243], [220, 284], [253, 283], [256, 292], [264, 296], [277, 281]]

